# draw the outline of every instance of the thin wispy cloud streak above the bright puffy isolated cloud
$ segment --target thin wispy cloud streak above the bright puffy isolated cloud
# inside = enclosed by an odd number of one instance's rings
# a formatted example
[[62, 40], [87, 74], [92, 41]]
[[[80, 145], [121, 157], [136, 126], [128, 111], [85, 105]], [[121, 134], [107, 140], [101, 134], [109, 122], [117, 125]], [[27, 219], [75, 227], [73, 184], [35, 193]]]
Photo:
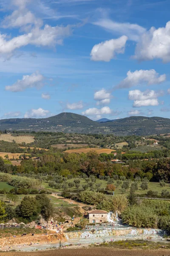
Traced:
[[116, 32], [119, 35], [126, 35], [133, 41], [139, 41], [140, 36], [146, 31], [146, 29], [137, 24], [115, 22], [108, 18], [102, 18], [93, 24], [110, 32]]

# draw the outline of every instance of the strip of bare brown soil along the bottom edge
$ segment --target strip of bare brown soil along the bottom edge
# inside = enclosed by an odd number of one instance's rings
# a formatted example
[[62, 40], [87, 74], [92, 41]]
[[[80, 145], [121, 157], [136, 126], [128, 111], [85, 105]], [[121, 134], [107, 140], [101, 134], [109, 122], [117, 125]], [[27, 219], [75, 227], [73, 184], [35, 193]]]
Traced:
[[8, 252], [0, 256], [170, 256], [170, 250], [115, 250], [111, 248], [62, 249], [41, 252]]

